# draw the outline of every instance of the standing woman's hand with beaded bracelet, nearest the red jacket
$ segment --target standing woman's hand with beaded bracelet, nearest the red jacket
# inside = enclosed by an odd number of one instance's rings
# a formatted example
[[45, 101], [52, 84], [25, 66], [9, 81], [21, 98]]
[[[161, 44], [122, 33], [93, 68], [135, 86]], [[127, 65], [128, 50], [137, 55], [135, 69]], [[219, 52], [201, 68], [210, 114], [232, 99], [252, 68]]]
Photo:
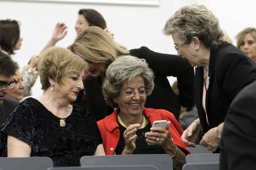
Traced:
[[181, 140], [188, 147], [196, 147], [196, 139], [198, 138], [201, 129], [196, 122], [192, 122], [186, 130], [184, 130]]

